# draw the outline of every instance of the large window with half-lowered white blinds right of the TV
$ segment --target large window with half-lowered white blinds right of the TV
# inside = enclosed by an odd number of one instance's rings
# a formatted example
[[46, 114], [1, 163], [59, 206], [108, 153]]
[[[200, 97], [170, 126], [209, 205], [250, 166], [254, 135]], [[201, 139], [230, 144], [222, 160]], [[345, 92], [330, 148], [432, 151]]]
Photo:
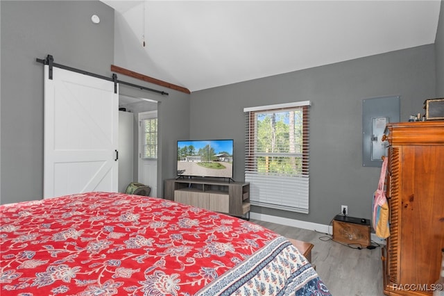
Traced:
[[250, 203], [308, 213], [310, 101], [244, 108]]

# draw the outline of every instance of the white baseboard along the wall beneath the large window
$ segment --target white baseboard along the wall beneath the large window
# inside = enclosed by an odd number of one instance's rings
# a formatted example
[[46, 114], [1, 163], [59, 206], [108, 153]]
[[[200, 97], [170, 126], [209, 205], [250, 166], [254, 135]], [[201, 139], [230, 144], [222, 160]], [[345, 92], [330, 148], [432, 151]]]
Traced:
[[[271, 222], [271, 223], [287, 225], [287, 226], [291, 226], [291, 227], [307, 229], [307, 230], [311, 230], [311, 231], [318, 231], [318, 232], [327, 233], [330, 235], [332, 235], [332, 233], [333, 233], [333, 227], [331, 225], [318, 224], [318, 223], [314, 223], [314, 222], [307, 222], [307, 221], [301, 221], [301, 220], [294, 220], [294, 219], [290, 219], [290, 218], [265, 215], [265, 214], [254, 213], [254, 212], [250, 212], [250, 218], [255, 219], [255, 220], [261, 220], [264, 222]], [[385, 245], [385, 240], [378, 238], [375, 235], [375, 233], [371, 233], [371, 240], [373, 240], [373, 242], [378, 243], [379, 245]]]

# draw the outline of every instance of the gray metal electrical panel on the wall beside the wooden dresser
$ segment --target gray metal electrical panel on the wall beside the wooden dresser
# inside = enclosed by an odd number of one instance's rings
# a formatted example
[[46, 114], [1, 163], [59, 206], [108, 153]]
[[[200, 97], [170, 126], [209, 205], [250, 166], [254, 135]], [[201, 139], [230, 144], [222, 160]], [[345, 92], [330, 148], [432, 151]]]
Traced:
[[362, 101], [362, 166], [381, 167], [387, 150], [387, 142], [382, 142], [386, 124], [399, 121], [399, 96]]

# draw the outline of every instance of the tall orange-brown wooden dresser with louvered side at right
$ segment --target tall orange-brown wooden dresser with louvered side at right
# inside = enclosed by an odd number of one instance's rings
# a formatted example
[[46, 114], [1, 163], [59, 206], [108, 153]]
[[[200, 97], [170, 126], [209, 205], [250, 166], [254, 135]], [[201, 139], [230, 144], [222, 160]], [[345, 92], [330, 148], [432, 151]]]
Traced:
[[382, 249], [386, 295], [432, 295], [444, 247], [444, 122], [386, 126], [391, 235]]

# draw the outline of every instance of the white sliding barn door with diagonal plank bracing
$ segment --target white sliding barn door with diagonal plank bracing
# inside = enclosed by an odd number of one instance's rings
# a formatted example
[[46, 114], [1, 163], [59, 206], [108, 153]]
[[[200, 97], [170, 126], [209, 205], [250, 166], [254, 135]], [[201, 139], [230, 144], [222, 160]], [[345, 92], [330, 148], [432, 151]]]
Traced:
[[44, 198], [117, 192], [119, 95], [114, 82], [44, 66]]

